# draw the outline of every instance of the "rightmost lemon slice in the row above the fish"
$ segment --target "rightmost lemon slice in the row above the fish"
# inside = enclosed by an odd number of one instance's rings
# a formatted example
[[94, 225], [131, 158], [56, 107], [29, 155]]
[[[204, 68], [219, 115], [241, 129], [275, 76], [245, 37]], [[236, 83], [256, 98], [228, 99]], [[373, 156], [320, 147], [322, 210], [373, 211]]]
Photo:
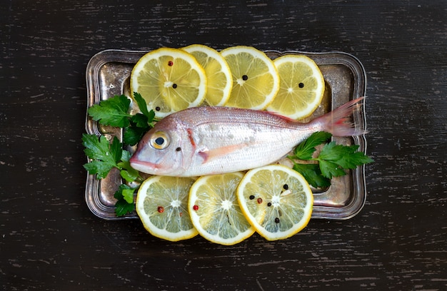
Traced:
[[324, 94], [324, 78], [316, 63], [307, 56], [287, 55], [276, 58], [280, 86], [268, 111], [293, 119], [310, 116]]

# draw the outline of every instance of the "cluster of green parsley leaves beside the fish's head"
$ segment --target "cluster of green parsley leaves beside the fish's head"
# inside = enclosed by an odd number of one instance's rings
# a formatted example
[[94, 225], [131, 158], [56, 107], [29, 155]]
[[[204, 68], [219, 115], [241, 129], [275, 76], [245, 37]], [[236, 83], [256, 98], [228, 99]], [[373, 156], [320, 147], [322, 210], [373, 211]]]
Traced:
[[[129, 184], [136, 182], [138, 185], [143, 181], [139, 171], [132, 168], [129, 163], [131, 153], [123, 148], [124, 144], [134, 146], [154, 126], [155, 113], [148, 110], [144, 98], [139, 93], [134, 93], [134, 100], [141, 111], [134, 115], [129, 113], [131, 101], [124, 95], [114, 96], [89, 108], [89, 116], [94, 121], [124, 130], [123, 143], [116, 136], [111, 142], [105, 136], [98, 138], [94, 134], [85, 133], [82, 136], [84, 153], [91, 158], [89, 163], [84, 164], [84, 168], [89, 173], [96, 174], [99, 179], [106, 178], [112, 168], [117, 168], [121, 178]], [[136, 188], [126, 184], [119, 186], [119, 190], [114, 194], [117, 216], [126, 215], [135, 209], [135, 190]]]

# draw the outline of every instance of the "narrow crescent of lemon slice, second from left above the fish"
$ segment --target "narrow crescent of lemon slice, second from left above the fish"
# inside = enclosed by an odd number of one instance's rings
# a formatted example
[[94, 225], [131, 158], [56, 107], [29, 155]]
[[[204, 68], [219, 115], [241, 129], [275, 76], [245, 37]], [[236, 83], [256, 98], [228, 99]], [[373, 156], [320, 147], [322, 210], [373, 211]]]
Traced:
[[206, 103], [210, 106], [224, 106], [233, 87], [230, 67], [225, 58], [214, 48], [201, 44], [192, 44], [183, 49], [191, 53], [205, 70], [208, 81]]

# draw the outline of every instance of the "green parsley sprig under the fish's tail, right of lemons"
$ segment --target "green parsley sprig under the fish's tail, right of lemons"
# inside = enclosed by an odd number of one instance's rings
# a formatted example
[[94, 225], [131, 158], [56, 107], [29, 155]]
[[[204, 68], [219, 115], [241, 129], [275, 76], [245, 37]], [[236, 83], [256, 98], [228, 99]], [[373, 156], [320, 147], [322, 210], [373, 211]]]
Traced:
[[[315, 188], [326, 188], [331, 185], [333, 177], [346, 175], [348, 169], [373, 162], [373, 159], [358, 151], [358, 145], [343, 146], [335, 141], [328, 142], [331, 136], [331, 133], [324, 131], [313, 133], [306, 141], [296, 146], [293, 155], [288, 155], [293, 162], [293, 170], [301, 173]], [[323, 148], [314, 157], [316, 147], [322, 144]]]

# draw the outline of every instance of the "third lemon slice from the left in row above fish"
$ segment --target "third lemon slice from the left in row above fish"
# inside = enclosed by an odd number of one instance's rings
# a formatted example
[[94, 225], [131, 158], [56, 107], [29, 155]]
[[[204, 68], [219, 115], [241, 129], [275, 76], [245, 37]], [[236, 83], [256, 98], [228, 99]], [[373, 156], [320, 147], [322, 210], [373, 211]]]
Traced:
[[273, 61], [250, 46], [232, 46], [221, 54], [233, 76], [233, 89], [226, 106], [265, 109], [279, 89], [278, 71]]

